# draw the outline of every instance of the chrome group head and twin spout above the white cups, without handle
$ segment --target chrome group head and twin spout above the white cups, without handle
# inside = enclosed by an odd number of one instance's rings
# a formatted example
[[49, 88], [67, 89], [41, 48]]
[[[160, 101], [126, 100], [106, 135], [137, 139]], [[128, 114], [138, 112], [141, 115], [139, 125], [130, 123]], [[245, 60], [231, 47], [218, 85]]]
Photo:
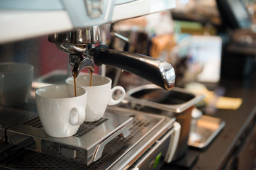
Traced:
[[48, 40], [69, 53], [69, 64], [72, 65], [72, 74], [75, 77], [79, 72], [87, 68], [94, 72], [94, 61], [88, 56], [88, 51], [94, 44], [100, 42], [99, 26], [77, 29], [64, 33], [54, 33], [48, 36]]

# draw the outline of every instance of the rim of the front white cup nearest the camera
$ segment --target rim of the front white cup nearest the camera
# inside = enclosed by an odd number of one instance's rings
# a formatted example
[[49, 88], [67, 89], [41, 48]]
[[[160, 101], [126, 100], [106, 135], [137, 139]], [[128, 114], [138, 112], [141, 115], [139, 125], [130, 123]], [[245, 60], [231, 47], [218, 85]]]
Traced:
[[40, 96], [42, 98], [48, 98], [48, 99], [52, 99], [52, 100], [56, 100], [56, 99], [62, 99], [62, 100], [70, 100], [70, 99], [72, 99], [72, 100], [74, 100], [75, 98], [81, 98], [82, 96], [87, 95], [87, 90], [82, 88], [82, 87], [79, 87], [79, 86], [77, 86], [77, 89], [82, 90], [82, 94], [79, 95], [79, 96], [75, 96], [75, 97], [52, 98], [52, 97], [48, 97], [48, 96], [42, 96], [42, 95], [39, 94], [40, 91], [44, 91], [45, 89], [52, 88], [53, 86], [65, 86], [65, 87], [67, 87], [67, 85], [65, 85], [65, 84], [52, 84], [52, 85], [49, 85], [49, 86], [43, 86], [43, 87], [40, 87], [39, 89], [37, 89], [35, 91], [35, 96]]

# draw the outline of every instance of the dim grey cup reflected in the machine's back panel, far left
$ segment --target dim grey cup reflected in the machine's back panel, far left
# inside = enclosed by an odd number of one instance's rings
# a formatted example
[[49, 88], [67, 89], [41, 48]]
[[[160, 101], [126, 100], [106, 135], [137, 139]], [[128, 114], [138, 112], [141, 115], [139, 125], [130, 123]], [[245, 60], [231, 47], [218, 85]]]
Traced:
[[26, 103], [33, 81], [33, 66], [20, 62], [4, 62], [0, 63], [0, 72], [4, 74], [1, 105], [18, 106]]

